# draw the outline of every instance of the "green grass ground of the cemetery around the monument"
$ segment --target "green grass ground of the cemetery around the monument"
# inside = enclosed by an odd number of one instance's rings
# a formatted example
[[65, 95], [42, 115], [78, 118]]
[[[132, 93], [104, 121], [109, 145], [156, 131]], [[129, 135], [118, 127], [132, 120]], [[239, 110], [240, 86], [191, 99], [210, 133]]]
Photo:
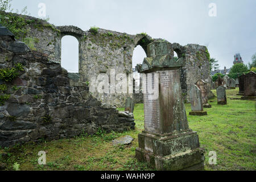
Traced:
[[[212, 90], [216, 95], [216, 90]], [[226, 90], [228, 105], [217, 105], [217, 98], [209, 100], [208, 115], [188, 115], [191, 105], [185, 104], [189, 127], [199, 134], [200, 147], [205, 148], [206, 170], [255, 170], [256, 118], [255, 101], [231, 100], [240, 98], [236, 90]], [[123, 108], [119, 109], [123, 110]], [[0, 164], [13, 170], [152, 170], [135, 159], [138, 134], [143, 130], [143, 104], [134, 108], [136, 128], [125, 133], [83, 134], [71, 139], [0, 148]], [[124, 135], [134, 138], [127, 146], [113, 146], [112, 140]], [[46, 165], [38, 164], [38, 152], [46, 151]], [[210, 165], [209, 151], [216, 151], [217, 165]], [[1, 165], [2, 165], [1, 164]], [[17, 166], [17, 165], [16, 165]]]

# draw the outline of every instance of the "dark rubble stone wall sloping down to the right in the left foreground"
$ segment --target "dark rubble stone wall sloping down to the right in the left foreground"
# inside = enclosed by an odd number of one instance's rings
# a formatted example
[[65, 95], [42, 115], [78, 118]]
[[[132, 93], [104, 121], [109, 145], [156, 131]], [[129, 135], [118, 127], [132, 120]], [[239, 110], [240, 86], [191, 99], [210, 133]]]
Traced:
[[16, 42], [0, 26], [0, 72], [23, 65], [23, 71], [13, 69], [18, 73], [14, 80], [8, 80], [10, 74], [0, 79], [0, 146], [94, 134], [98, 128], [134, 129], [133, 114], [102, 103], [86, 85], [71, 86], [77, 81], [70, 80], [55, 62], [46, 53], [30, 51], [26, 44]]

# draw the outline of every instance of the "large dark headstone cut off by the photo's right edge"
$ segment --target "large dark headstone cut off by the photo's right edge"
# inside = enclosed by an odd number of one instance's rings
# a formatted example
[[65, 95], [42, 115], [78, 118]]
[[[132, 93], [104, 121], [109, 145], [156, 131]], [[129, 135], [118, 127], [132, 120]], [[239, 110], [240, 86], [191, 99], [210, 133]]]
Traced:
[[256, 100], [256, 73], [251, 71], [244, 76], [244, 92], [242, 100]]

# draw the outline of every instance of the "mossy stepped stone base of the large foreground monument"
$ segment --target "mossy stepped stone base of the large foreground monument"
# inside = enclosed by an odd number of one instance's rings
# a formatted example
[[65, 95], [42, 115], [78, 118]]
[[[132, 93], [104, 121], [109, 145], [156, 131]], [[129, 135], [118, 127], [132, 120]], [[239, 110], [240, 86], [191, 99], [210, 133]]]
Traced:
[[199, 148], [199, 137], [190, 130], [176, 134], [152, 134], [143, 131], [138, 135], [136, 158], [162, 171], [203, 170], [204, 152]]

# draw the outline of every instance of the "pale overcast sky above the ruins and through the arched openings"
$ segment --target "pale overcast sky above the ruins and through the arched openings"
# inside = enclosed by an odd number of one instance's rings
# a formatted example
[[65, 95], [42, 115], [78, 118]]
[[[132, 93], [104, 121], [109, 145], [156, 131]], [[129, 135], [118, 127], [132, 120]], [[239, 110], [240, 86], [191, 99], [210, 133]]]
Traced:
[[[138, 34], [146, 32], [152, 38], [166, 39], [183, 46], [189, 43], [207, 46], [210, 57], [220, 68], [232, 67], [235, 53], [241, 53], [247, 64], [256, 52], [255, 0], [13, 0], [13, 8], [27, 6], [31, 16], [39, 18], [38, 5], [46, 4], [49, 23], [56, 26], [74, 25], [82, 30], [92, 26]], [[215, 3], [217, 16], [209, 16], [209, 4]], [[62, 40], [65, 63], [72, 71], [77, 46], [75, 38]], [[77, 57], [77, 55], [75, 55]], [[134, 51], [133, 66], [142, 63], [146, 55], [139, 46]]]

